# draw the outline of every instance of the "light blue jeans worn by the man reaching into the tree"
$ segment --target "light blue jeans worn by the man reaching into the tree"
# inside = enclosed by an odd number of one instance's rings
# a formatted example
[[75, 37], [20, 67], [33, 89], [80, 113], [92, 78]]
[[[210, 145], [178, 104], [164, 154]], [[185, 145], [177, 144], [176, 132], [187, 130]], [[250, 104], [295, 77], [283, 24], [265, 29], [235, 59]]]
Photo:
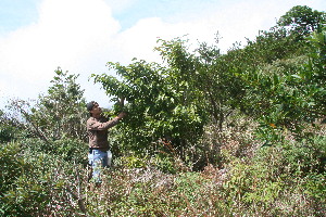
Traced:
[[108, 158], [108, 153], [111, 155], [111, 152], [102, 152], [100, 150], [92, 150], [88, 154], [88, 162], [92, 168], [92, 179], [96, 182], [101, 182], [101, 170], [103, 167], [111, 166], [111, 156]]

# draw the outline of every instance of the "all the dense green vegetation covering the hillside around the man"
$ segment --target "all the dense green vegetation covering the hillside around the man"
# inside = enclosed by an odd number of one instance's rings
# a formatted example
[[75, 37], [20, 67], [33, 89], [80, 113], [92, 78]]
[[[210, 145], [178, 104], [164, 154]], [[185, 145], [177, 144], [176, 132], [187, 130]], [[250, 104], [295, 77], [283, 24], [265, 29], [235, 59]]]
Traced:
[[105, 115], [128, 116], [95, 190], [84, 90], [58, 68], [37, 102], [0, 111], [0, 215], [325, 216], [325, 24], [294, 7], [226, 53], [177, 38], [158, 41], [163, 64], [108, 63]]

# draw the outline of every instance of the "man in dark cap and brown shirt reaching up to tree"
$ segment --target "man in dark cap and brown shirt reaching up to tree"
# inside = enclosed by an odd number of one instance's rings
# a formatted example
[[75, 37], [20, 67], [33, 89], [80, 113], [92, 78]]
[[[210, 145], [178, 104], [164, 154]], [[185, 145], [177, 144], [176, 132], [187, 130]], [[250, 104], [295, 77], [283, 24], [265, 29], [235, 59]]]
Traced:
[[93, 180], [101, 182], [101, 169], [108, 166], [108, 153], [111, 154], [109, 150], [108, 129], [118, 124], [120, 120], [126, 116], [126, 113], [122, 112], [113, 119], [108, 120], [101, 116], [102, 110], [95, 101], [87, 104], [87, 110], [90, 115], [87, 120], [87, 133], [89, 139], [88, 159], [92, 168]]

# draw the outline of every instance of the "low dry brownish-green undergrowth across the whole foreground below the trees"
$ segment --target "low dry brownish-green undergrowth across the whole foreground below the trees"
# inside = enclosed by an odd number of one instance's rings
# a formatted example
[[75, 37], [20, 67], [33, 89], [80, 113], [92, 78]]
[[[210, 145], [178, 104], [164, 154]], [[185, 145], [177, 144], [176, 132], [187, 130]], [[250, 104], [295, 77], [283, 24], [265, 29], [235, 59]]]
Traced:
[[223, 165], [172, 174], [163, 173], [150, 158], [138, 159], [146, 165], [139, 168], [115, 159], [113, 168], [104, 169], [101, 187], [93, 187], [83, 164], [37, 154], [28, 145], [22, 152], [20, 144], [8, 143], [0, 152], [0, 214], [324, 216], [325, 145], [325, 137], [317, 136], [260, 146], [246, 157], [223, 148], [218, 155]]

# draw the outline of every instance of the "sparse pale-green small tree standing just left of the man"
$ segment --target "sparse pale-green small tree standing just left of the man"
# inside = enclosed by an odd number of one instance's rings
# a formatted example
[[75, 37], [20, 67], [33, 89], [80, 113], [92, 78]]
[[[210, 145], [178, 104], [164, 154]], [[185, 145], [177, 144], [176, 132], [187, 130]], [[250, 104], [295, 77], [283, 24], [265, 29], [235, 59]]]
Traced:
[[47, 95], [39, 97], [36, 105], [17, 100], [12, 101], [11, 110], [24, 118], [27, 131], [47, 143], [62, 138], [86, 140], [86, 103], [76, 78], [77, 76], [58, 68], [51, 80], [53, 86], [48, 89]]

